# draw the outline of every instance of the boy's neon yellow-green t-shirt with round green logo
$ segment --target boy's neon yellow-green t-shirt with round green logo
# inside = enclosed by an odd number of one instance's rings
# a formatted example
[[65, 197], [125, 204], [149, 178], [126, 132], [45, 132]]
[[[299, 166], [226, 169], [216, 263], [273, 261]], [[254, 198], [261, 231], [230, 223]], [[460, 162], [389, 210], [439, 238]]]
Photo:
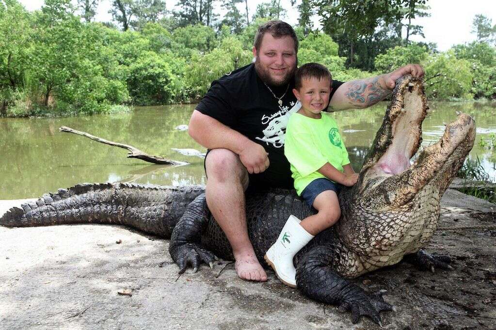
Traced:
[[341, 172], [350, 164], [336, 121], [330, 113], [320, 113], [322, 117], [314, 119], [295, 112], [286, 126], [284, 155], [291, 164], [298, 195], [311, 181], [325, 177], [317, 170], [326, 163]]

